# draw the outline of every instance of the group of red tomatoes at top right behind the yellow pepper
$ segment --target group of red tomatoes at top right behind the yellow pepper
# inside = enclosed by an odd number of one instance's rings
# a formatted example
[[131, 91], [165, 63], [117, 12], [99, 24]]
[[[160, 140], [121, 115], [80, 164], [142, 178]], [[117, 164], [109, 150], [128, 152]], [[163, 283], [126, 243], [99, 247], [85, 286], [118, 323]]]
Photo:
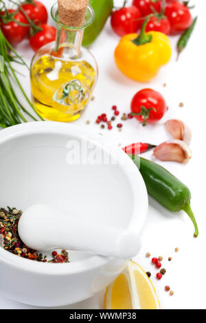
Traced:
[[176, 0], [133, 0], [133, 5], [115, 10], [111, 17], [111, 25], [119, 36], [139, 31], [144, 19], [149, 14], [146, 32], [155, 30], [163, 34], [179, 34], [192, 24], [190, 10]]

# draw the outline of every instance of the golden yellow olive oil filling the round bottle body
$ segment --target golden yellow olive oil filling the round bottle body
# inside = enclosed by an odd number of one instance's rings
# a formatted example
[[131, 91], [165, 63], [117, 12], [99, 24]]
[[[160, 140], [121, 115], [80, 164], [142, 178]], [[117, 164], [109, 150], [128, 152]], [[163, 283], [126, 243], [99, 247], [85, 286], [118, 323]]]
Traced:
[[31, 68], [36, 111], [47, 120], [77, 120], [91, 98], [95, 80], [95, 70], [86, 60], [41, 56]]

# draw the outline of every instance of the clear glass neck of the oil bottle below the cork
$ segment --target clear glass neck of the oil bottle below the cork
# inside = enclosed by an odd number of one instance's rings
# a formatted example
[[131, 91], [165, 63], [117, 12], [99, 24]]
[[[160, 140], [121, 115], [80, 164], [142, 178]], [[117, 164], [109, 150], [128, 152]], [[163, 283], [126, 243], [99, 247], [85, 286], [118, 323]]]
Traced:
[[80, 56], [83, 34], [84, 29], [71, 30], [69, 27], [58, 27], [56, 32], [56, 52], [64, 47], [67, 55], [69, 54], [71, 57]]

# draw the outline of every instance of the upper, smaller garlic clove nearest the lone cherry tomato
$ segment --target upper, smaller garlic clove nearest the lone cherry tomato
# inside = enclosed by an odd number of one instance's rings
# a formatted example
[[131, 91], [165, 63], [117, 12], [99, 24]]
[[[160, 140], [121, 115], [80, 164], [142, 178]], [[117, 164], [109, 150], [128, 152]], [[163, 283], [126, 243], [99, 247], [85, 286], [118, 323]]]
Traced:
[[186, 144], [190, 144], [192, 139], [192, 131], [181, 120], [168, 120], [165, 122], [165, 129], [174, 137], [174, 139], [183, 140]]

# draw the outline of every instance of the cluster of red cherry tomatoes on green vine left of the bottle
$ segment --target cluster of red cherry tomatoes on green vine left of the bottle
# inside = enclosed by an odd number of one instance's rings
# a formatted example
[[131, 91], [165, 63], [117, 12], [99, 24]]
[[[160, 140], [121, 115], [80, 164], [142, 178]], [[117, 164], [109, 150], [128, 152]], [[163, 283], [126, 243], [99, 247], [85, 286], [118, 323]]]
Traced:
[[56, 29], [47, 25], [47, 9], [40, 1], [21, 5], [17, 10], [0, 12], [0, 27], [11, 45], [21, 43], [29, 36], [30, 46], [36, 52], [41, 46], [54, 41]]

